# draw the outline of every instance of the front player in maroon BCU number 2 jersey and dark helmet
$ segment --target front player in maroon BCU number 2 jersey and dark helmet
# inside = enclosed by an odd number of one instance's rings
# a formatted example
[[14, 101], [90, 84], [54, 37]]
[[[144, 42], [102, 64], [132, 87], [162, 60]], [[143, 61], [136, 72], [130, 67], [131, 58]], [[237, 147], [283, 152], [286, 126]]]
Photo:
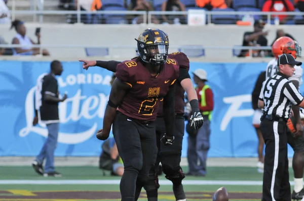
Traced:
[[113, 124], [113, 135], [125, 171], [120, 189], [122, 201], [134, 201], [149, 181], [157, 157], [155, 120], [163, 102], [165, 145], [174, 142], [174, 86], [179, 75], [176, 60], [167, 59], [169, 39], [159, 29], [145, 29], [137, 39], [139, 57], [117, 65], [103, 129], [97, 138], [105, 140]]

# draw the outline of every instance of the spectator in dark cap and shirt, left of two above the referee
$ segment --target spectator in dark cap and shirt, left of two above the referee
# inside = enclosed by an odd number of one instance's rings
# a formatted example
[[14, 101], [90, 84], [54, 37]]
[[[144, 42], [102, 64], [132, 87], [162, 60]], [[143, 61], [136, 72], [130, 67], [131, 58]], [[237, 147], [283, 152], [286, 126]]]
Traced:
[[[262, 20], [255, 20], [253, 24], [253, 32], [245, 32], [243, 36], [243, 46], [267, 46], [268, 40], [265, 36], [268, 35], [268, 31], [263, 31], [265, 22]], [[267, 55], [267, 51], [263, 51]], [[242, 49], [239, 57], [248, 57], [248, 49]], [[252, 57], [261, 57], [261, 51], [255, 49], [252, 51]]]

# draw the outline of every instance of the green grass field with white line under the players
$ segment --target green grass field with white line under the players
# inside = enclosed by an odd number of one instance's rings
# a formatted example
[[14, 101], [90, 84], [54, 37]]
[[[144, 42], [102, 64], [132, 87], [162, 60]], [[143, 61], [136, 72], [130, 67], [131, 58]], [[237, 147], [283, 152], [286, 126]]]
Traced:
[[[187, 172], [187, 168], [183, 168]], [[0, 200], [83, 201], [120, 200], [120, 177], [103, 176], [97, 167], [58, 167], [60, 178], [37, 175], [31, 167], [0, 168]], [[292, 169], [290, 180], [293, 180]], [[209, 167], [206, 177], [187, 176], [183, 180], [187, 200], [212, 200], [216, 189], [225, 186], [230, 200], [260, 200], [262, 174], [256, 168]], [[160, 176], [159, 200], [175, 200], [172, 184]], [[144, 189], [140, 200], [147, 200]]]

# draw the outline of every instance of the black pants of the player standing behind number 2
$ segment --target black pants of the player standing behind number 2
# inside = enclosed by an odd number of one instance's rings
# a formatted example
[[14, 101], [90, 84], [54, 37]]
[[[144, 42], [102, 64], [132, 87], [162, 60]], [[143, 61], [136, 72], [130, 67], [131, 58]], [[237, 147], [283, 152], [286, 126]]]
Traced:
[[[174, 131], [174, 143], [172, 145], [165, 146], [161, 143], [161, 138], [166, 133], [165, 121], [164, 118], [158, 117], [156, 119], [156, 141], [158, 147], [157, 161], [154, 169], [150, 170], [150, 181], [145, 190], [147, 193], [148, 200], [156, 200], [153, 197], [157, 197], [157, 188], [159, 187], [157, 172], [160, 162], [162, 163], [162, 168], [164, 174], [169, 177], [179, 177], [184, 176], [180, 167], [181, 160], [181, 148], [182, 148], [182, 139], [184, 135], [185, 121], [182, 114], [177, 114], [175, 116], [175, 131]], [[169, 174], [168, 174], [169, 173]], [[155, 181], [155, 176], [157, 181]], [[176, 179], [177, 181], [172, 181], [173, 183], [173, 192], [176, 200], [185, 199], [185, 193], [183, 186], [181, 184], [181, 179]], [[157, 187], [155, 187], [157, 185]]]

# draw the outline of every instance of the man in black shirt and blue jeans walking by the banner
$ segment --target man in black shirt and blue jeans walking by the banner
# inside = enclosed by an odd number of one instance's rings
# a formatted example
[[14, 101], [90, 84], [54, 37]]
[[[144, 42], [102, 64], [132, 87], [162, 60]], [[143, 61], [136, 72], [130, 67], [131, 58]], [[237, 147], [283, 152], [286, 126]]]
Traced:
[[[59, 98], [58, 83], [55, 77], [56, 75], [61, 75], [62, 71], [61, 62], [57, 60], [53, 61], [51, 63], [51, 72], [43, 77], [41, 76], [40, 79], [42, 79], [37, 81], [36, 86], [39, 87], [40, 83], [40, 90], [39, 92], [36, 90], [35, 95], [41, 97], [41, 103], [39, 103], [40, 110], [35, 110], [33, 125], [36, 125], [38, 120], [41, 120], [47, 125], [49, 134], [40, 154], [32, 162], [32, 167], [38, 174], [44, 175], [45, 177], [61, 176], [54, 168], [54, 152], [57, 146], [59, 132], [58, 103], [63, 102], [67, 98], [66, 94], [64, 94], [63, 98]], [[46, 159], [45, 170], [43, 169], [44, 159]]]

